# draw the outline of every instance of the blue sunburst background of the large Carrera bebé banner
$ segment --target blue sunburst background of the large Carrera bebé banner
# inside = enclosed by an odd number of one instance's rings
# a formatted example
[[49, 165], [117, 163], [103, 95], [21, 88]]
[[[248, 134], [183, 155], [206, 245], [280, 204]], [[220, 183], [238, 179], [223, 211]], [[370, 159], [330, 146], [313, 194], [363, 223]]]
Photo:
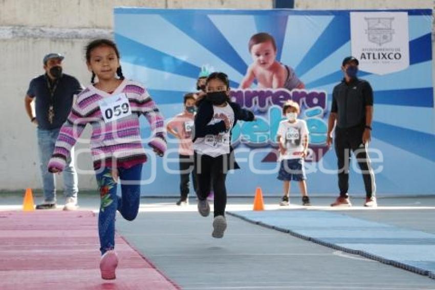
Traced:
[[[432, 11], [403, 11], [408, 14], [409, 66], [383, 75], [360, 73], [375, 90], [371, 157], [381, 195], [434, 194]], [[309, 191], [335, 194], [336, 156], [325, 146], [324, 128], [332, 89], [342, 77], [341, 60], [351, 53], [350, 12], [119, 8], [115, 9], [115, 40], [125, 74], [144, 82], [169, 118], [182, 110], [183, 93], [195, 90], [201, 66], [226, 72], [236, 91], [252, 63], [247, 48], [250, 36], [257, 32], [273, 35], [277, 59], [292, 67], [307, 87], [307, 91], [284, 93], [303, 105], [301, 116], [309, 122], [311, 139], [315, 140], [311, 149], [316, 158], [307, 162]], [[323, 106], [321, 98], [313, 102], [318, 105], [310, 105], [313, 92], [325, 92]], [[238, 93], [243, 105], [249, 97], [246, 92]], [[277, 163], [270, 158], [280, 107], [268, 104], [253, 107], [260, 119], [255, 126], [242, 124], [237, 134], [233, 132], [249, 141], [237, 144], [242, 170], [228, 176], [230, 195], [251, 195], [257, 186], [267, 194], [281, 192], [281, 183], [276, 180]], [[143, 126], [148, 128], [145, 121]], [[148, 135], [149, 131], [144, 132], [144, 137]], [[169, 163], [157, 159], [145, 167], [144, 179], [154, 180], [146, 185], [145, 192], [177, 192], [177, 143], [171, 141], [169, 148]], [[350, 183], [352, 194], [363, 195], [359, 174], [351, 172]]]

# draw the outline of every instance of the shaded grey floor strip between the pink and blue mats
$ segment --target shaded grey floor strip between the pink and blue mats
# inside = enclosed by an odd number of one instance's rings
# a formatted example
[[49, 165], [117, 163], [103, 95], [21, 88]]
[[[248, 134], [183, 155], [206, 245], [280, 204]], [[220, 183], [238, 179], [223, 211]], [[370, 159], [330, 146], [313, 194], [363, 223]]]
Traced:
[[435, 289], [435, 281], [227, 216], [140, 213], [118, 232], [183, 289]]

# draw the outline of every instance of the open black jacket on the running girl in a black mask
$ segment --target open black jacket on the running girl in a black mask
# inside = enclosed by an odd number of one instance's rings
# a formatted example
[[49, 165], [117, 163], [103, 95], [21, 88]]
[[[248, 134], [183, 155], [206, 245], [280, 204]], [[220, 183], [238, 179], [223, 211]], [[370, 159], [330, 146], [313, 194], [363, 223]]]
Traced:
[[[233, 109], [234, 112], [234, 123], [233, 127], [237, 123], [238, 120], [242, 121], [253, 121], [255, 116], [251, 111], [242, 109], [240, 105], [236, 102], [228, 103]], [[194, 132], [193, 132], [193, 142], [197, 138], [203, 138], [205, 135], [217, 135], [219, 133], [225, 132], [227, 128], [225, 127], [225, 122], [220, 121], [215, 123], [214, 125], [207, 125], [211, 119], [213, 118], [213, 104], [207, 99], [203, 99], [198, 105], [198, 112], [195, 115], [194, 120]], [[232, 137], [232, 132], [230, 132], [230, 140]], [[230, 154], [228, 155], [229, 162], [228, 170], [231, 169], [240, 169], [237, 162], [234, 158], [233, 148], [230, 144]]]

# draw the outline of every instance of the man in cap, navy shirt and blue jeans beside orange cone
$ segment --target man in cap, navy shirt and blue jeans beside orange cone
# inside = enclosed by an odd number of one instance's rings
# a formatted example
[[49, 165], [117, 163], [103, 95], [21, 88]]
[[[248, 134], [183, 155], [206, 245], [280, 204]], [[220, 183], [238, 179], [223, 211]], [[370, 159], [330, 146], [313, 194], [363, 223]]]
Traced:
[[[75, 77], [62, 73], [62, 60], [63, 56], [59, 53], [49, 53], [44, 57], [46, 73], [30, 81], [25, 98], [27, 115], [37, 126], [39, 167], [44, 190], [44, 202], [36, 206], [38, 210], [56, 208], [55, 178], [53, 173], [48, 172], [47, 164], [53, 154], [60, 127], [71, 112], [73, 97], [82, 90]], [[36, 116], [31, 107], [33, 100]], [[71, 151], [71, 156], [73, 155]], [[63, 183], [66, 196], [63, 210], [74, 210], [77, 208], [78, 187], [73, 158], [68, 160], [63, 171]]]

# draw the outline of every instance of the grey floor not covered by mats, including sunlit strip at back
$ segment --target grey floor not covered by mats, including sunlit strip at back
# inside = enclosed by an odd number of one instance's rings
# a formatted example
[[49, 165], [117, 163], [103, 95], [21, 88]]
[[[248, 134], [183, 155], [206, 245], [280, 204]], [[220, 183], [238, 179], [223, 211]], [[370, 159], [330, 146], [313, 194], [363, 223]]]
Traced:
[[[35, 198], [37, 201], [40, 199]], [[282, 210], [265, 198], [266, 210]], [[312, 198], [312, 210], [331, 210], [333, 198]], [[143, 198], [137, 219], [117, 219], [117, 231], [183, 289], [435, 289], [435, 280], [227, 216], [223, 239], [211, 237], [212, 217], [175, 198]], [[295, 203], [300, 198], [293, 198]], [[0, 210], [19, 209], [22, 196], [0, 194]], [[379, 209], [335, 210], [356, 218], [435, 233], [435, 197], [384, 198]], [[97, 193], [80, 195], [96, 211]], [[353, 199], [356, 205], [362, 199]], [[229, 198], [227, 210], [251, 209], [252, 198]], [[294, 205], [286, 210], [299, 208]], [[61, 206], [59, 206], [61, 209]], [[121, 261], [122, 262], [122, 261]]]

